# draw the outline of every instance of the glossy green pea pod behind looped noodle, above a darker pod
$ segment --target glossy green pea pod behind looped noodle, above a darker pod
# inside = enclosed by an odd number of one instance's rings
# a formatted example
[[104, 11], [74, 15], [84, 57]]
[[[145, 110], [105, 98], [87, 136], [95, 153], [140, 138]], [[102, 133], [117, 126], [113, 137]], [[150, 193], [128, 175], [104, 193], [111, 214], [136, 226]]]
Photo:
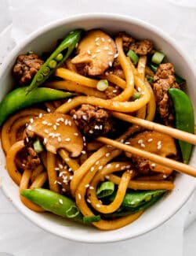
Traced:
[[[162, 195], [165, 190], [156, 191], [127, 191], [122, 201], [123, 207], [136, 208], [144, 203], [151, 201], [152, 198]], [[110, 201], [114, 201], [115, 194], [111, 196]]]

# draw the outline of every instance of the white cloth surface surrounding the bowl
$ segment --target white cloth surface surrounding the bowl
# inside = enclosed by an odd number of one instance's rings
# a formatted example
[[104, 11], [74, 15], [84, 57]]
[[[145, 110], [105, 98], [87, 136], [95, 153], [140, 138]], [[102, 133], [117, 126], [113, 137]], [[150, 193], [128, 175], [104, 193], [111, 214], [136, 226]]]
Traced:
[[[53, 20], [77, 13], [120, 13], [155, 24], [183, 46], [196, 64], [196, 0], [0, 0], [0, 63], [13, 46]], [[186, 187], [184, 188], [186, 189]], [[120, 243], [74, 243], [27, 221], [0, 190], [0, 256], [113, 255], [194, 256], [196, 195], [154, 231]]]

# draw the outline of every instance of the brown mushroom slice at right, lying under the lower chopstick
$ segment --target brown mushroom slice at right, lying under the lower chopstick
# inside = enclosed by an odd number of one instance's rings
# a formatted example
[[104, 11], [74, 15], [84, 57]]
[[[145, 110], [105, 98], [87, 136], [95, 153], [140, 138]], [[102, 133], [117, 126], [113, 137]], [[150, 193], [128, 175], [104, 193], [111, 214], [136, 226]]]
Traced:
[[[153, 154], [158, 154], [164, 158], [166, 157], [176, 157], [177, 150], [174, 139], [169, 135], [162, 134], [160, 132], [141, 132], [129, 139], [130, 146], [139, 148], [151, 152]], [[126, 153], [128, 157], [132, 158], [132, 161], [136, 164], [136, 167], [141, 170], [142, 173], [154, 171], [158, 173], [170, 174], [172, 169], [165, 167], [163, 165], [155, 164], [154, 162], [140, 158], [136, 155], [130, 155]]]

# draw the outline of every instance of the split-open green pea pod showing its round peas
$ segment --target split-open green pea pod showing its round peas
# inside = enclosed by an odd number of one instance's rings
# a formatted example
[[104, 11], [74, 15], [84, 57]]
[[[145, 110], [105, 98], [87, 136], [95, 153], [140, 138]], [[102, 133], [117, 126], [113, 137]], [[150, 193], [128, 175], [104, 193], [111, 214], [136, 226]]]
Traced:
[[53, 54], [42, 65], [41, 69], [38, 70], [34, 76], [29, 87], [27, 87], [27, 94], [34, 88], [38, 87], [49, 78], [49, 76], [71, 55], [75, 46], [79, 42], [83, 30], [78, 28], [70, 32], [64, 41], [60, 43], [60, 46], [53, 51]]

